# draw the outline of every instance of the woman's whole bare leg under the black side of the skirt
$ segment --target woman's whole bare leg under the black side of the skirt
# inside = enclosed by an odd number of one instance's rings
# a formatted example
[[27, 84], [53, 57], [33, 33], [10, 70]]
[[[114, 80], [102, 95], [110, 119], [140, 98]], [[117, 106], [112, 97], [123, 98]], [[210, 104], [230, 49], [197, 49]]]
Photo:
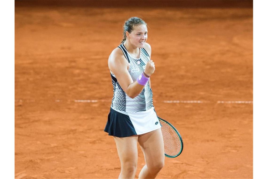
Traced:
[[138, 136], [114, 137], [121, 163], [121, 173], [118, 178], [134, 178], [137, 170]]

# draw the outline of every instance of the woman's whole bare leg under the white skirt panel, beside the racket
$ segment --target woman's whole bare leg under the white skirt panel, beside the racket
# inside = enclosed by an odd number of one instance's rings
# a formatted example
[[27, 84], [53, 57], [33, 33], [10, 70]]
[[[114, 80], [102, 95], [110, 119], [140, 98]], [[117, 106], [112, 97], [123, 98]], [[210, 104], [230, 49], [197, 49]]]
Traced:
[[139, 178], [155, 178], [165, 162], [164, 141], [161, 129], [139, 135], [138, 142], [144, 154], [146, 165]]

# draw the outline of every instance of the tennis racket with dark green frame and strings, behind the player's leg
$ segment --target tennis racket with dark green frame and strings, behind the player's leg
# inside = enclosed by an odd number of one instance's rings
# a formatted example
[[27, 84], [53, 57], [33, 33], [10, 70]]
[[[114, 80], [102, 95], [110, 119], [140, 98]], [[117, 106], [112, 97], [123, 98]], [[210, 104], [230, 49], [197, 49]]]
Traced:
[[[158, 117], [158, 116], [157, 116]], [[183, 140], [177, 129], [166, 120], [159, 118], [162, 130], [165, 156], [169, 158], [177, 157], [183, 151]]]

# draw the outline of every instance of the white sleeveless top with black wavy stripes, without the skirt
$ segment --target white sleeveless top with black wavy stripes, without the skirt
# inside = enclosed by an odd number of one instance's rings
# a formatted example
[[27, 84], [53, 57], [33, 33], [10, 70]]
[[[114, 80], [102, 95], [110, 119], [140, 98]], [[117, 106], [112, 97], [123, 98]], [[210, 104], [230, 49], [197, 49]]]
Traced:
[[[126, 50], [123, 43], [118, 46], [128, 60], [129, 74], [135, 82], [140, 74], [144, 71], [145, 64], [150, 60], [150, 56], [144, 48], [140, 49], [140, 58], [133, 58]], [[149, 81], [144, 86], [142, 92], [135, 98], [129, 97], [117, 82], [116, 76], [111, 72], [114, 96], [111, 108], [122, 114], [128, 115], [128, 112], [142, 112], [154, 108], [152, 104], [152, 89]]]

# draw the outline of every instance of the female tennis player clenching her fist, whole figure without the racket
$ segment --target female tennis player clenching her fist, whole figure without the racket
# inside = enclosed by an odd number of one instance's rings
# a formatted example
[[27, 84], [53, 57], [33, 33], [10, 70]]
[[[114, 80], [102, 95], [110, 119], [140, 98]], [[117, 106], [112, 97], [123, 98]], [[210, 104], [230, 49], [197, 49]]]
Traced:
[[164, 166], [161, 125], [154, 111], [150, 78], [155, 71], [147, 24], [138, 17], [125, 21], [124, 39], [108, 60], [114, 96], [105, 130], [114, 136], [121, 162], [119, 178], [134, 178], [137, 142], [146, 165], [139, 178], [155, 178]]

